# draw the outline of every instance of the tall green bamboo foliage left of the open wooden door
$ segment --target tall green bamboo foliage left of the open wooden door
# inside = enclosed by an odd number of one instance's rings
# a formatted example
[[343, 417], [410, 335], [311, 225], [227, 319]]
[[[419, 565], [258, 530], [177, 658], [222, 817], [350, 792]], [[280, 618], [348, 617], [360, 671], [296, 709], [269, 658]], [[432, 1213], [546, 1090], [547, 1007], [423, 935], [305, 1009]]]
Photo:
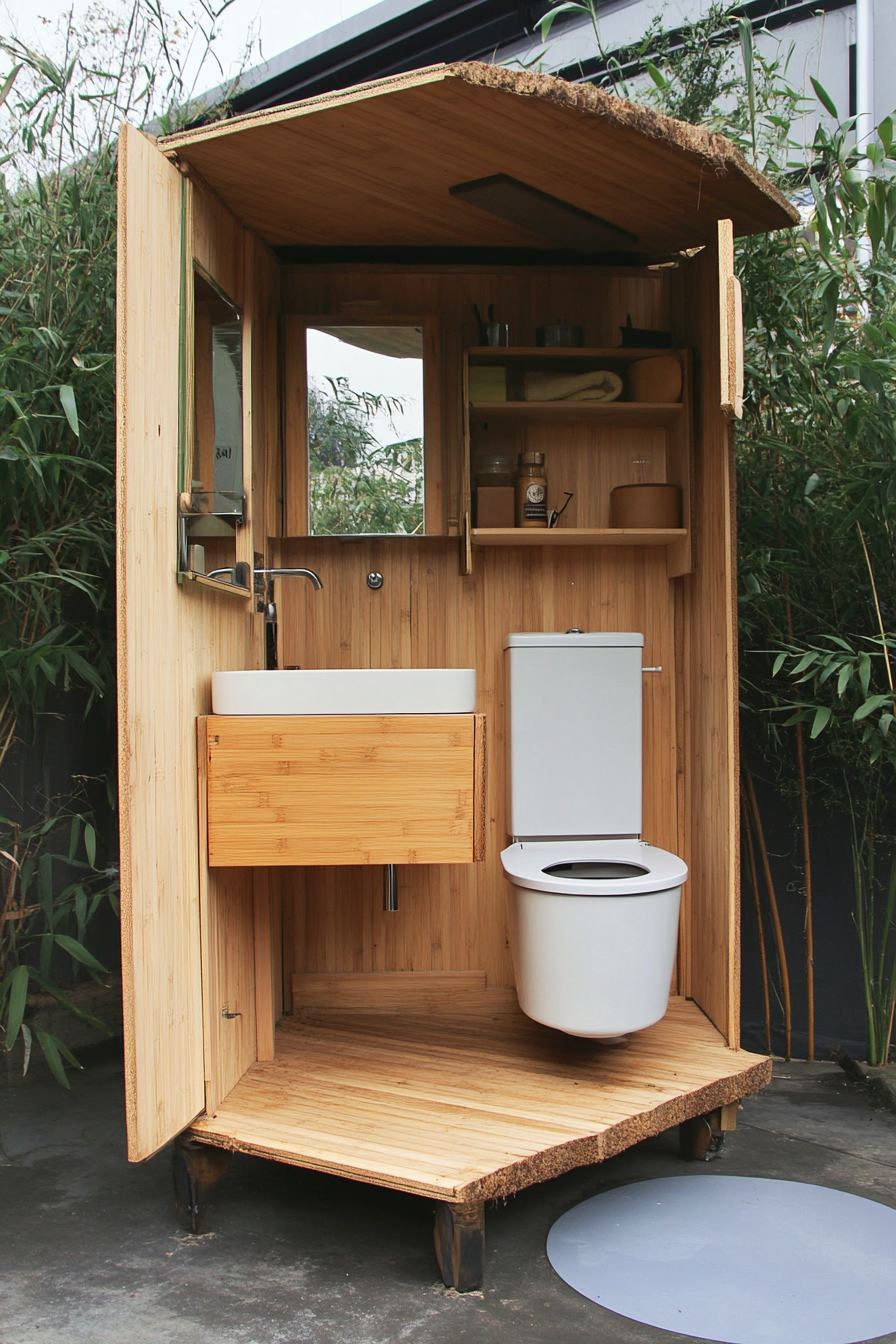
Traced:
[[[8, 1048], [23, 1036], [26, 1067], [30, 986], [83, 1016], [58, 980], [102, 970], [89, 926], [117, 910], [103, 781], [54, 781], [51, 801], [44, 782], [86, 714], [114, 793], [116, 137], [196, 113], [187, 70], [219, 13], [203, 0], [177, 34], [160, 0], [136, 0], [70, 17], [54, 58], [0, 42], [0, 1031]], [[36, 1035], [64, 1082], [71, 1054]]]

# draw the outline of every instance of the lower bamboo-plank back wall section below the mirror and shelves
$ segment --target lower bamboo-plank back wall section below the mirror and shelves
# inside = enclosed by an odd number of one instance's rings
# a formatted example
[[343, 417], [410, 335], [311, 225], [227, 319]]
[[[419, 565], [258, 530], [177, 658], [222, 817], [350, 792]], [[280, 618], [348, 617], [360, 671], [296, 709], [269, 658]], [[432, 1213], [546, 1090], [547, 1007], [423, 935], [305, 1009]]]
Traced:
[[[513, 984], [500, 860], [509, 630], [643, 632], [646, 664], [664, 667], [645, 676], [645, 837], [676, 849], [673, 591], [662, 551], [482, 550], [470, 578], [459, 577], [458, 543], [449, 539], [290, 540], [282, 555], [324, 581], [322, 593], [283, 585], [283, 665], [476, 667], [489, 742], [485, 863], [399, 868], [399, 913], [391, 915], [382, 910], [380, 868], [289, 870], [287, 969], [484, 969], [489, 985]], [[367, 587], [369, 570], [384, 575], [379, 591]], [[283, 880], [289, 891], [286, 874]]]

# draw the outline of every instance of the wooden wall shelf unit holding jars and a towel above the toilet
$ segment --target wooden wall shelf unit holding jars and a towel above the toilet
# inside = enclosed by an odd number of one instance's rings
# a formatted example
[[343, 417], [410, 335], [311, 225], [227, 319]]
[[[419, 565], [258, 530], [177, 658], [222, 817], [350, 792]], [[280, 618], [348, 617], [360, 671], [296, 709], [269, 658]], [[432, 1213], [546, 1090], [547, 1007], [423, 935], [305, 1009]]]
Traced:
[[[670, 356], [681, 364], [678, 402], [527, 402], [524, 374], [532, 368], [576, 372], [609, 368], [625, 375], [641, 359]], [[476, 345], [465, 352], [469, 370], [505, 367], [505, 402], [465, 405], [463, 484], [469, 519], [474, 520], [473, 464], [478, 452], [506, 456], [516, 464], [523, 449], [545, 454], [548, 511], [570, 507], [556, 528], [470, 527], [469, 564], [474, 547], [485, 546], [649, 546], [665, 547], [670, 578], [693, 569], [693, 441], [692, 378], [688, 349], [623, 349], [621, 347]], [[489, 439], [488, 445], [485, 439]], [[615, 485], [668, 481], [681, 491], [681, 527], [611, 528], [610, 492]]]

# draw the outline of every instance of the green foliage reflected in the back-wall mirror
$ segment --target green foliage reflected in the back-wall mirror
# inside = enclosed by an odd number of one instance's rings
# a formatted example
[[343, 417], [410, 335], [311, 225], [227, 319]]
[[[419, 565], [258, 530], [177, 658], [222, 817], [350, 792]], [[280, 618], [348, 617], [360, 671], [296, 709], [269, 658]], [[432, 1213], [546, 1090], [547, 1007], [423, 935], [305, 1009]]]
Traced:
[[382, 445], [369, 427], [400, 401], [355, 392], [344, 378], [326, 383], [308, 395], [312, 534], [422, 532], [423, 442]]

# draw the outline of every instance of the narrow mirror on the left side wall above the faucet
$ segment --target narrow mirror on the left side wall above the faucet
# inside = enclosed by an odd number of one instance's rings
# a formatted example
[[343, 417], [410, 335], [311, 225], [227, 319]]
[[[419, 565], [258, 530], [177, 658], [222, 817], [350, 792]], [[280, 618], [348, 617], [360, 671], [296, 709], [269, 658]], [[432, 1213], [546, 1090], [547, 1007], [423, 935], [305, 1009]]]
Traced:
[[227, 536], [243, 517], [243, 329], [239, 309], [193, 273], [191, 536]]

